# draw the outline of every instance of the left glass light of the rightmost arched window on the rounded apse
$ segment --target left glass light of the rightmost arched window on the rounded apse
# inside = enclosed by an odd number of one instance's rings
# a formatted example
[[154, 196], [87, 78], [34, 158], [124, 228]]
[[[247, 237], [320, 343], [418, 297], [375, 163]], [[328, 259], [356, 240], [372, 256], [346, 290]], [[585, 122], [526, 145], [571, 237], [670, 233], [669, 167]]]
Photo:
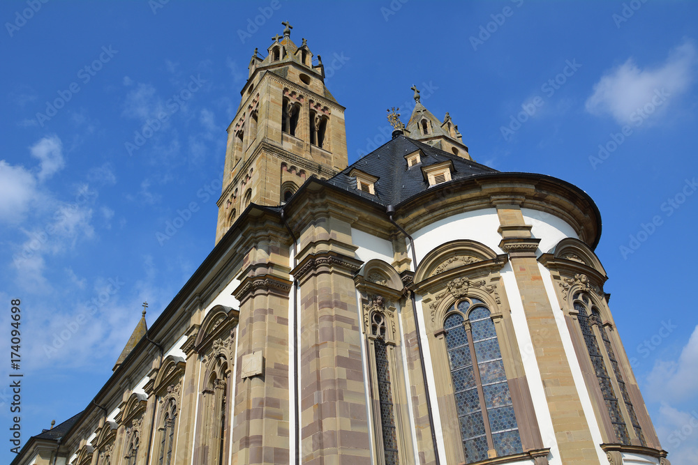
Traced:
[[[584, 302], [588, 303], [586, 296], [584, 296]], [[577, 320], [579, 321], [579, 327], [581, 328], [582, 335], [584, 335], [586, 349], [589, 353], [589, 358], [591, 358], [591, 365], [594, 368], [599, 387], [601, 388], [601, 395], [604, 398], [604, 403], [606, 404], [606, 409], [611, 419], [611, 425], [613, 425], [618, 441], [629, 445], [630, 436], [628, 436], [628, 428], [625, 426], [625, 419], [623, 418], [623, 413], [621, 413], [621, 407], [618, 404], [618, 397], [616, 397], [616, 393], [614, 392], [611, 377], [606, 368], [606, 363], [604, 363], [604, 357], [592, 327], [592, 324], [597, 321], [597, 316], [590, 315], [586, 305], [579, 300], [574, 303], [574, 310], [578, 312]], [[623, 385], [623, 387], [625, 387], [625, 385]]]

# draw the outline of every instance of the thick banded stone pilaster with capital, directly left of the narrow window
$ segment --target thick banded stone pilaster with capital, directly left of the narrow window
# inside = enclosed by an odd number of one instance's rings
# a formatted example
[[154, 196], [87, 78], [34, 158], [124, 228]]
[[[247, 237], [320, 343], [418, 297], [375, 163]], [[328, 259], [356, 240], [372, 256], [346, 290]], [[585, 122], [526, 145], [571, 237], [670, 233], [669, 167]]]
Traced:
[[369, 464], [361, 324], [352, 279], [361, 262], [336, 252], [308, 254], [300, 283], [301, 462]]

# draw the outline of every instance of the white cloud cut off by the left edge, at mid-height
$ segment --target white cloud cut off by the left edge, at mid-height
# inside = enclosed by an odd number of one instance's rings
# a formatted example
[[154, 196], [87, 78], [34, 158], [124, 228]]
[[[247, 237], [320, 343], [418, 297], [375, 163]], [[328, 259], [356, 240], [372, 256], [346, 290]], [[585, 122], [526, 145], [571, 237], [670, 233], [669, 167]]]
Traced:
[[0, 160], [0, 222], [21, 222], [34, 199], [34, 175], [24, 167], [15, 167]]

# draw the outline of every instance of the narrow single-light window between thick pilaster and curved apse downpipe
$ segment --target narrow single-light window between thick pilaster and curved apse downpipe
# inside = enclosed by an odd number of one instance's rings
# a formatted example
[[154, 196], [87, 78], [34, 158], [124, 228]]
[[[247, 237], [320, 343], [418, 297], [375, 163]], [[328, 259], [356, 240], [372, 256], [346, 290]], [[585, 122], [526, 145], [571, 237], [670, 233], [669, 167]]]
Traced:
[[385, 315], [373, 312], [371, 315], [371, 340], [376, 360], [378, 378], [378, 401], [380, 403], [380, 427], [383, 437], [383, 455], [386, 465], [399, 464], [395, 413], [390, 379], [387, 344], [385, 344]]

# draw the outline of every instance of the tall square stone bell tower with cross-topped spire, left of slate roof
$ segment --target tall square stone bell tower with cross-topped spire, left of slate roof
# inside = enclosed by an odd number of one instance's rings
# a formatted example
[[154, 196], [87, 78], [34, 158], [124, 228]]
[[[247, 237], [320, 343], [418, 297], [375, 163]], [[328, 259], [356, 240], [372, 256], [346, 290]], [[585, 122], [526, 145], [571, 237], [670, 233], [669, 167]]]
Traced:
[[266, 57], [255, 48], [228, 126], [216, 243], [251, 203], [283, 204], [309, 176], [329, 178], [348, 164], [345, 108], [325, 86], [322, 58], [282, 24]]

